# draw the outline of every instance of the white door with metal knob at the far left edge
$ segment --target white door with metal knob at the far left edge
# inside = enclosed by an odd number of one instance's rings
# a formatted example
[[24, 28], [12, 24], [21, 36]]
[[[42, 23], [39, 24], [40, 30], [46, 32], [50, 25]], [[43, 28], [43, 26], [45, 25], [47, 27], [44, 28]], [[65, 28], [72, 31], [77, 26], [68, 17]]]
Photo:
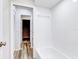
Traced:
[[0, 0], [0, 59], [10, 59], [8, 2]]

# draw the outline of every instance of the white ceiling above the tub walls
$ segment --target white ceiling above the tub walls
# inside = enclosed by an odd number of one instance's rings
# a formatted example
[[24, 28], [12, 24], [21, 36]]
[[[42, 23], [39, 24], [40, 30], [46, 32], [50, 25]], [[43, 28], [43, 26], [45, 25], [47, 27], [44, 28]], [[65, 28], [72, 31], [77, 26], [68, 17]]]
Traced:
[[37, 6], [51, 8], [51, 7], [53, 7], [54, 5], [56, 5], [60, 1], [61, 0], [35, 0], [35, 4]]

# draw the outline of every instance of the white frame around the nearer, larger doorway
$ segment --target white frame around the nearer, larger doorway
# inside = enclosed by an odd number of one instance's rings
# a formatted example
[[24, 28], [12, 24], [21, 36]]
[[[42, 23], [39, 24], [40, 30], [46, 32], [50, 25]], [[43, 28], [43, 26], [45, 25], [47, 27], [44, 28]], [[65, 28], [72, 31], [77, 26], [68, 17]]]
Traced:
[[[32, 20], [34, 19], [34, 6], [31, 5], [25, 5], [22, 3], [13, 3], [11, 2], [11, 59], [14, 59], [14, 16], [15, 16], [15, 5], [18, 6], [23, 6], [23, 7], [28, 7], [28, 8], [32, 8], [33, 9], [33, 14], [32, 14]], [[33, 47], [33, 21], [32, 21], [32, 47]]]

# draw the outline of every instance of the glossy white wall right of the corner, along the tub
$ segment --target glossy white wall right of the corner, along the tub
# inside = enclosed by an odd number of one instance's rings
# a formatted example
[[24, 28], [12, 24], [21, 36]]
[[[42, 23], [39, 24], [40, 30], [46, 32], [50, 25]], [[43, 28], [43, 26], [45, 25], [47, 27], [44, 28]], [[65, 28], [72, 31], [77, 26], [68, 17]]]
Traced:
[[70, 59], [77, 59], [77, 2], [64, 0], [52, 8], [53, 46]]

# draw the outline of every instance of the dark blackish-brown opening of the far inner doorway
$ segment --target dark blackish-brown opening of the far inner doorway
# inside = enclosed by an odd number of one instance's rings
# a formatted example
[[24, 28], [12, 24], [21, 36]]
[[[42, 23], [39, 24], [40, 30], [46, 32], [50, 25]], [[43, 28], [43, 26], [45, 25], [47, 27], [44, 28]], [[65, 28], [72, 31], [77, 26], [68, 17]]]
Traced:
[[30, 43], [30, 20], [22, 20], [22, 41], [27, 43], [27, 45]]

